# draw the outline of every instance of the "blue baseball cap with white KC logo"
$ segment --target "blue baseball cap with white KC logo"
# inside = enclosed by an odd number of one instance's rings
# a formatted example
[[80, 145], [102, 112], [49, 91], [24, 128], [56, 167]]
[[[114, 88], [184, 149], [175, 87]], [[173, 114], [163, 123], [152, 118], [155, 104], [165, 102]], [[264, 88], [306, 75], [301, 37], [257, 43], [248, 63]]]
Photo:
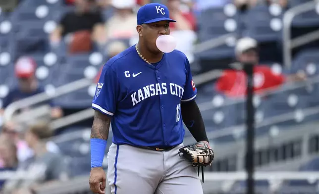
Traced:
[[169, 18], [168, 8], [160, 3], [145, 4], [137, 12], [137, 25], [149, 24], [162, 20], [176, 22]]

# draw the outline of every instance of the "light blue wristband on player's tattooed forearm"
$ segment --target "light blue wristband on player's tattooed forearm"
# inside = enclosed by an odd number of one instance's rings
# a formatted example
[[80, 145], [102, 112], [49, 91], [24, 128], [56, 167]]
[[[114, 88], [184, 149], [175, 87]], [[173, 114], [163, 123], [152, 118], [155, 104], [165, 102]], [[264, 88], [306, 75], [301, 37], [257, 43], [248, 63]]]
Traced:
[[91, 168], [102, 167], [106, 140], [91, 139]]

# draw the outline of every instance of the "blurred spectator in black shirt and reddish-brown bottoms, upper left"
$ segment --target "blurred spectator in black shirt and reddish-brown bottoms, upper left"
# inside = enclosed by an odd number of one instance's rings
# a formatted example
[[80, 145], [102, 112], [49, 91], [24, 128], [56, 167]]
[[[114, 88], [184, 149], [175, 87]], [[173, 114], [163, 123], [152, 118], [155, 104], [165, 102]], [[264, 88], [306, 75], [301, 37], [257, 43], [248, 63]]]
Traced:
[[103, 18], [96, 9], [95, 0], [74, 0], [76, 10], [66, 13], [50, 36], [52, 45], [58, 45], [62, 37], [68, 37], [69, 52], [87, 52], [93, 42], [99, 43], [103, 33]]

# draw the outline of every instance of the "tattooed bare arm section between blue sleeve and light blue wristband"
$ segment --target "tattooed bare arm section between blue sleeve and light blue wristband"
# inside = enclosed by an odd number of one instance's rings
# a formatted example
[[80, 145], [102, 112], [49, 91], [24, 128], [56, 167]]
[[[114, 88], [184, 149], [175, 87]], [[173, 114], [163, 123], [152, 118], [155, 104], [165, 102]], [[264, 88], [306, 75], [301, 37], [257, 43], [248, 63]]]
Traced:
[[107, 140], [110, 123], [111, 123], [110, 117], [95, 110], [93, 125], [91, 129], [91, 139], [97, 138], [97, 139]]

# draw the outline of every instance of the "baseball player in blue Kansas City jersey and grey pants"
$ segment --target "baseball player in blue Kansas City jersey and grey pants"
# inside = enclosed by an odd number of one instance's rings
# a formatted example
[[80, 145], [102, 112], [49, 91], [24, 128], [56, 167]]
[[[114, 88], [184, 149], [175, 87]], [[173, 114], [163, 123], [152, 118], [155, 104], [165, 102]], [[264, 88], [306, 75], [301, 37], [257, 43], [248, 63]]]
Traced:
[[169, 35], [167, 7], [142, 6], [137, 13], [138, 44], [109, 59], [103, 67], [92, 107], [92, 192], [105, 194], [102, 162], [110, 124], [113, 139], [107, 153], [107, 187], [112, 194], [203, 194], [197, 169], [180, 157], [185, 130], [197, 144], [209, 142], [197, 89], [184, 53], [162, 53], [156, 46]]

